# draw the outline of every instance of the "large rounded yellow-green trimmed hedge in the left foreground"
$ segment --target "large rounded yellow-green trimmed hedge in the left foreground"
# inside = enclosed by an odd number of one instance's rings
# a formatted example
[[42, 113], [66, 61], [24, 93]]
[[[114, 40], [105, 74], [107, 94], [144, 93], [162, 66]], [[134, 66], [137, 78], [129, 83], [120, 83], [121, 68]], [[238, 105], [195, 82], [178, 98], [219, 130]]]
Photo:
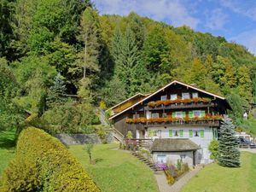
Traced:
[[20, 133], [16, 156], [3, 174], [1, 191], [100, 191], [55, 137], [29, 127]]

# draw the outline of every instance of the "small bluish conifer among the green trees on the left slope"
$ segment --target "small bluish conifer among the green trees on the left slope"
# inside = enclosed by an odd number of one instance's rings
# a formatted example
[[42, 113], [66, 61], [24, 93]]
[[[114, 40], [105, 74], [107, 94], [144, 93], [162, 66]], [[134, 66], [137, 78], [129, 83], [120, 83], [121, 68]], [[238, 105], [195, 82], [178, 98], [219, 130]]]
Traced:
[[63, 96], [65, 94], [66, 87], [64, 81], [61, 79], [61, 74], [58, 73], [55, 78], [55, 84], [49, 88], [49, 93], [47, 96], [47, 106], [49, 108], [54, 107], [56, 104], [63, 104], [66, 99]]

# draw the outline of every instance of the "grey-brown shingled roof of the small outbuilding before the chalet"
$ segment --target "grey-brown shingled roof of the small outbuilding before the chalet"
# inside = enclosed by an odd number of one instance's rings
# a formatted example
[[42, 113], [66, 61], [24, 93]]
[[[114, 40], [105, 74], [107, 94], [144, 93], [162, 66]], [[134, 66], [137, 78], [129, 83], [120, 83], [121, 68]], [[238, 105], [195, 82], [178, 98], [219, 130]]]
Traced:
[[152, 152], [195, 151], [197, 149], [200, 149], [200, 147], [188, 138], [155, 139], [151, 147]]

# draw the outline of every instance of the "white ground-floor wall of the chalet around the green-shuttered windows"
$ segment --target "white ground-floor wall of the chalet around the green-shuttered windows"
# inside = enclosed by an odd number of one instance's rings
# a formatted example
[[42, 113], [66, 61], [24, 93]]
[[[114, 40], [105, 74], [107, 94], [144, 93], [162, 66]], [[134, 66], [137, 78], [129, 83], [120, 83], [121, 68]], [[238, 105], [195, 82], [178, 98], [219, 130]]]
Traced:
[[[157, 137], [154, 138], [189, 138], [192, 142], [196, 143], [198, 146], [201, 147], [201, 149], [197, 150], [195, 153], [195, 163], [196, 164], [207, 164], [211, 163], [212, 160], [210, 159], [210, 152], [208, 150], [209, 143], [213, 139], [213, 133], [212, 133], [212, 128], [210, 127], [203, 127], [203, 126], [198, 126], [198, 127], [148, 127], [149, 130], [157, 130], [160, 131], [160, 136], [158, 135]], [[172, 131], [178, 131], [178, 130], [183, 130], [183, 137], [175, 137], [172, 134], [172, 137], [169, 137], [169, 130]], [[204, 130], [204, 137], [195, 137], [193, 134], [193, 137], [189, 137], [189, 130], [193, 131], [200, 131]], [[146, 138], [148, 137], [148, 131], [146, 131]]]

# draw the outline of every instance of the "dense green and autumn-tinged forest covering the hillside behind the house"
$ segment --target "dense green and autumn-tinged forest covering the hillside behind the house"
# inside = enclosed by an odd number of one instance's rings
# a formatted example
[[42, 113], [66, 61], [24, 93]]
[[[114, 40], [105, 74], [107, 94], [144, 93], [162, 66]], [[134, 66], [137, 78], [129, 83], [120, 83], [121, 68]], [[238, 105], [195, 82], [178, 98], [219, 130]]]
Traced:
[[0, 130], [90, 132], [95, 108], [173, 79], [226, 96], [236, 125], [256, 102], [245, 47], [136, 13], [99, 15], [89, 0], [0, 0], [0, 77]]

